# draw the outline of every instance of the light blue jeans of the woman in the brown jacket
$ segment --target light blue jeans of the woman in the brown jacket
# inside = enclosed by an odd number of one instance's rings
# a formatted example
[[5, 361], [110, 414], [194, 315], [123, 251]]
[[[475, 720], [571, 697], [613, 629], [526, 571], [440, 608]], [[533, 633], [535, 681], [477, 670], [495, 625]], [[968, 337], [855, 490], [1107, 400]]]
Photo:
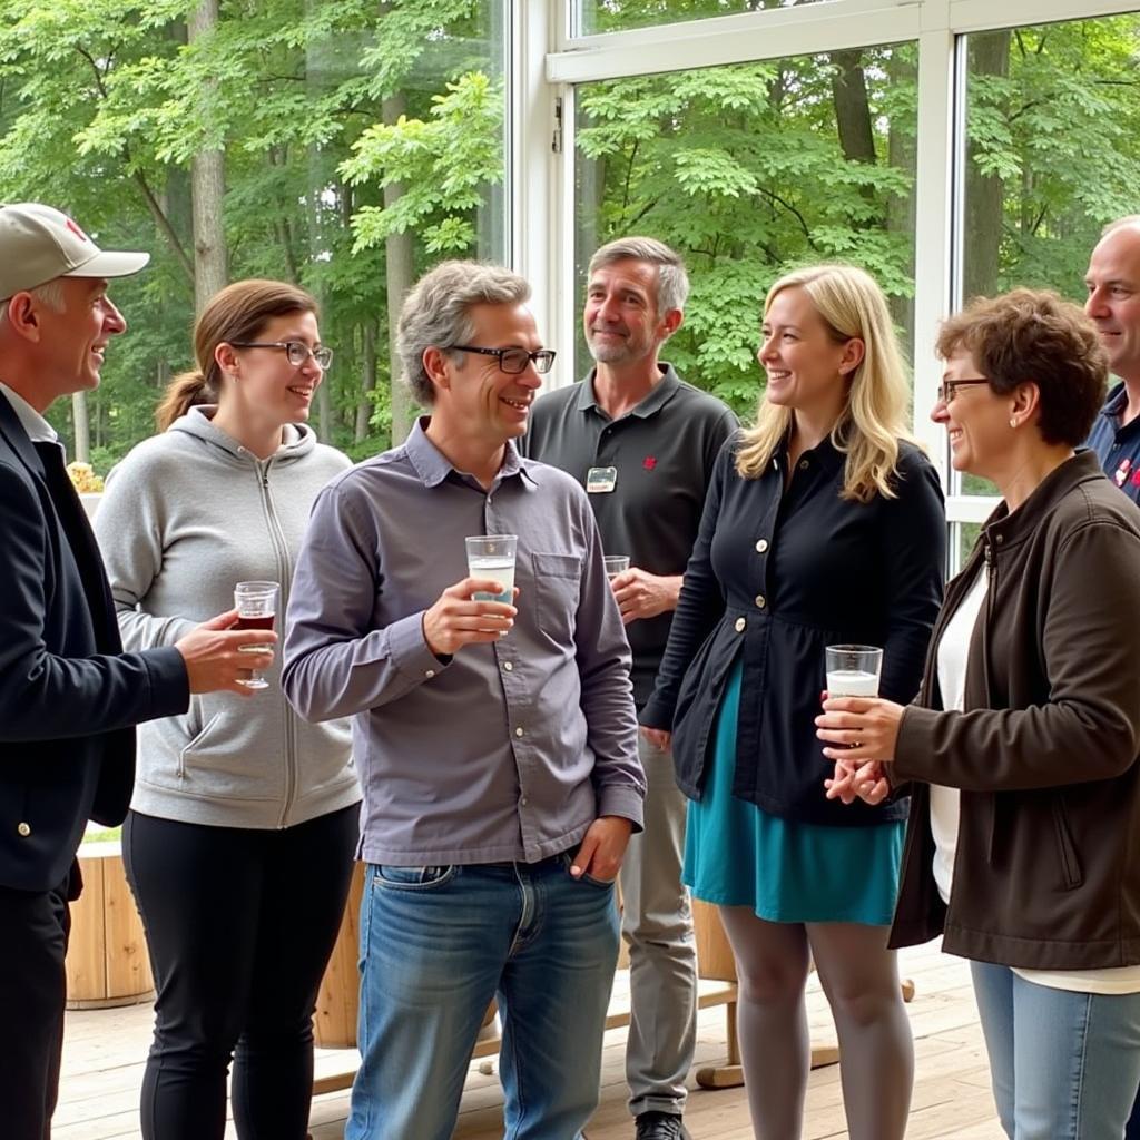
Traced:
[[1140, 1082], [1140, 994], [1089, 994], [971, 962], [1010, 1140], [1116, 1140]]

